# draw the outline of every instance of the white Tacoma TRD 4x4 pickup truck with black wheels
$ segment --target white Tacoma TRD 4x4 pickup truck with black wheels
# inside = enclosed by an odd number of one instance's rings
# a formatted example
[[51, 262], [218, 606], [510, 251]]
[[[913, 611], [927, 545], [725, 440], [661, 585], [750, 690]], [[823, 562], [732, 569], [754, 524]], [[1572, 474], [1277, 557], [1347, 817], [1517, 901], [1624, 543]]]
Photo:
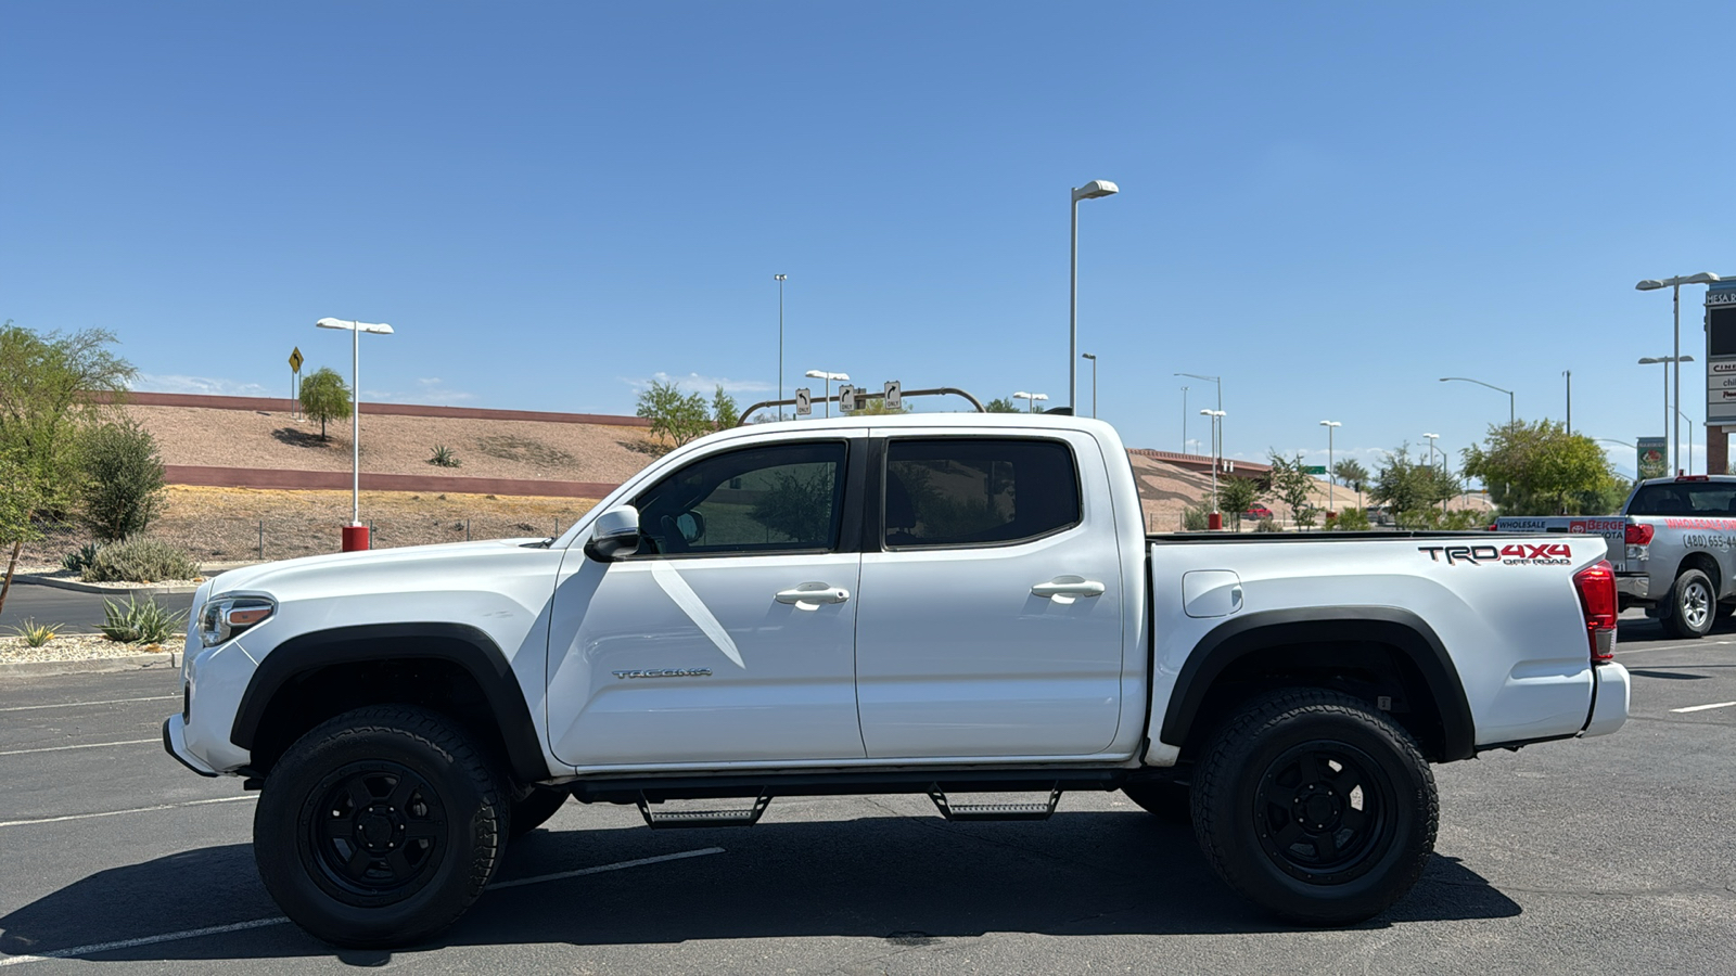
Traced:
[[738, 427], [561, 538], [207, 582], [163, 743], [264, 790], [266, 887], [339, 945], [451, 924], [568, 797], [722, 827], [781, 795], [1031, 820], [1120, 788], [1243, 896], [1344, 924], [1430, 856], [1430, 762], [1627, 719], [1604, 540], [1502, 542], [1147, 537], [1097, 420]]

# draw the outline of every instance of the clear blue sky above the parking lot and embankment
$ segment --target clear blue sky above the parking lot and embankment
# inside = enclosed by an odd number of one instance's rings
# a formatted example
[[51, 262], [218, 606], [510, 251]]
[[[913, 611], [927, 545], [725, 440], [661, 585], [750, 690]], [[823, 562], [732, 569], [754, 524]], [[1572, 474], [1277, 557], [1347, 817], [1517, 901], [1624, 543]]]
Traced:
[[[142, 389], [630, 413], [807, 368], [1340, 457], [1660, 434], [1668, 293], [1736, 274], [1722, 3], [7, 3], [0, 320]], [[1698, 24], [1698, 26], [1696, 26]], [[1701, 290], [1684, 351], [1701, 358]], [[1703, 417], [1703, 377], [1682, 403]], [[1088, 365], [1080, 379], [1088, 405]], [[922, 406], [922, 405], [918, 405]], [[950, 408], [929, 403], [927, 408]], [[1191, 436], [1205, 425], [1191, 417]], [[1696, 455], [1703, 458], [1703, 436]], [[1632, 469], [1632, 455], [1616, 452]]]

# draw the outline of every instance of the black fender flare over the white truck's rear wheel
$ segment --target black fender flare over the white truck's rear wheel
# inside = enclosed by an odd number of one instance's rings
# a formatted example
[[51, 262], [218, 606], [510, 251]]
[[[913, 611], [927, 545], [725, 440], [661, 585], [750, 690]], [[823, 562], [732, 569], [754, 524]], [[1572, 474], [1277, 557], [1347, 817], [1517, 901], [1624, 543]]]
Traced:
[[1285, 644], [1373, 643], [1397, 648], [1417, 672], [1441, 716], [1441, 761], [1476, 755], [1476, 721], [1458, 669], [1429, 623], [1396, 606], [1311, 606], [1267, 610], [1219, 623], [1187, 655], [1170, 691], [1158, 738], [1186, 742], [1212, 684], [1238, 660]]

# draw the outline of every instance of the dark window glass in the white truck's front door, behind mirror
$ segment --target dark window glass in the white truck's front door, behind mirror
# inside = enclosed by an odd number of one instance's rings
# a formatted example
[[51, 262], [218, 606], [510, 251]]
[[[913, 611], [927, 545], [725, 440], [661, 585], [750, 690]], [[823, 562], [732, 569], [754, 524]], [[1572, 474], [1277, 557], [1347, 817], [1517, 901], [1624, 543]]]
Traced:
[[696, 460], [634, 502], [639, 554], [837, 549], [844, 457], [842, 441], [823, 441]]

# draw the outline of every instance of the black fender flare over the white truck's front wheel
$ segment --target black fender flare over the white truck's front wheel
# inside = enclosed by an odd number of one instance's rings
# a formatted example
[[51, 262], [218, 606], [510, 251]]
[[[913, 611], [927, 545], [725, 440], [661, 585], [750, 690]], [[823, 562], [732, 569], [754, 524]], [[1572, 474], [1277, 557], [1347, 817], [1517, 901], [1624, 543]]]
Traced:
[[493, 637], [469, 623], [363, 623], [290, 637], [266, 653], [248, 679], [229, 742], [252, 752], [273, 698], [306, 674], [332, 665], [404, 658], [441, 660], [464, 669], [483, 689], [512, 773], [526, 783], [549, 778], [549, 761], [512, 665]]

